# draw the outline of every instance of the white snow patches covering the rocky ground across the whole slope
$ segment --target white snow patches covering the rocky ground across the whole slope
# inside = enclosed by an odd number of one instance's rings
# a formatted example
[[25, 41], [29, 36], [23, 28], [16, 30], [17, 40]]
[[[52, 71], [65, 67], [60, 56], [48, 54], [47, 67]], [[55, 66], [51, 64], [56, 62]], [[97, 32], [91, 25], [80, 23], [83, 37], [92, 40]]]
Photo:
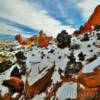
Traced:
[[[93, 45], [94, 42], [100, 44], [100, 40], [97, 40], [96, 33], [97, 33], [96, 31], [89, 33], [90, 34], [89, 41], [81, 41], [82, 36], [80, 37], [73, 36], [71, 39], [72, 45], [74, 44], [80, 45], [79, 49], [74, 50], [74, 56], [76, 58], [76, 61], [80, 62], [78, 57], [78, 54], [80, 52], [83, 52], [83, 54], [86, 55], [85, 60], [81, 61], [84, 66], [82, 70], [84, 73], [92, 72], [95, 67], [100, 65], [100, 55], [99, 55], [100, 48], [97, 48]], [[32, 47], [32, 49], [25, 52], [25, 56], [27, 57], [26, 60], [26, 66], [28, 68], [27, 70], [28, 71], [31, 70], [28, 77], [29, 84], [31, 85], [35, 83], [37, 80], [41, 79], [43, 76], [45, 76], [45, 74], [48, 72], [48, 69], [50, 69], [53, 66], [54, 62], [55, 62], [55, 69], [51, 77], [52, 79], [51, 85], [56, 84], [57, 82], [61, 82], [62, 79], [60, 77], [58, 70], [61, 69], [63, 72], [65, 71], [67, 63], [69, 61], [67, 56], [69, 56], [70, 53], [71, 50], [68, 47], [60, 49], [57, 47], [56, 43], [49, 45], [46, 48], [40, 48], [34, 46]], [[89, 64], [86, 64], [85, 62], [86, 59], [91, 58], [94, 54], [97, 55], [97, 59], [95, 59]], [[2, 81], [4, 79], [9, 78], [12, 69], [13, 66], [9, 70], [5, 71], [0, 75], [0, 90], [2, 91], [2, 94], [4, 94], [7, 89], [1, 85]], [[24, 81], [25, 78], [26, 76], [23, 76]], [[58, 88], [56, 96], [58, 100], [65, 100], [66, 98], [75, 99], [77, 96], [77, 84], [74, 82], [64, 83], [61, 87]], [[40, 94], [35, 96], [35, 98], [32, 100], [43, 100], [43, 98], [44, 94]]]

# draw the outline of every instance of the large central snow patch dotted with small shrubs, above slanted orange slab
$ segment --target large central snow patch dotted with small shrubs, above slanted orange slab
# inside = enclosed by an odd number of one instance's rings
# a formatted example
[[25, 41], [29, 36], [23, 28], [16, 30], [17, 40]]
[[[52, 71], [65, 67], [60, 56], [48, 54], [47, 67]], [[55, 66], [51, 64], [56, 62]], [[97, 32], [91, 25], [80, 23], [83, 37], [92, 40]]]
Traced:
[[[55, 44], [48, 46], [48, 49], [33, 47], [27, 53], [26, 60], [27, 68], [31, 69], [28, 77], [29, 84], [33, 84], [40, 79], [42, 74], [39, 75], [39, 71], [44, 69], [44, 72], [46, 72], [53, 65], [53, 62], [55, 62], [56, 70], [59, 68], [65, 70], [68, 59], [64, 55], [67, 52], [70, 52], [68, 48], [60, 49]], [[42, 56], [43, 58], [41, 58]], [[57, 71], [54, 72], [52, 79], [54, 83], [60, 80], [60, 75]]]

